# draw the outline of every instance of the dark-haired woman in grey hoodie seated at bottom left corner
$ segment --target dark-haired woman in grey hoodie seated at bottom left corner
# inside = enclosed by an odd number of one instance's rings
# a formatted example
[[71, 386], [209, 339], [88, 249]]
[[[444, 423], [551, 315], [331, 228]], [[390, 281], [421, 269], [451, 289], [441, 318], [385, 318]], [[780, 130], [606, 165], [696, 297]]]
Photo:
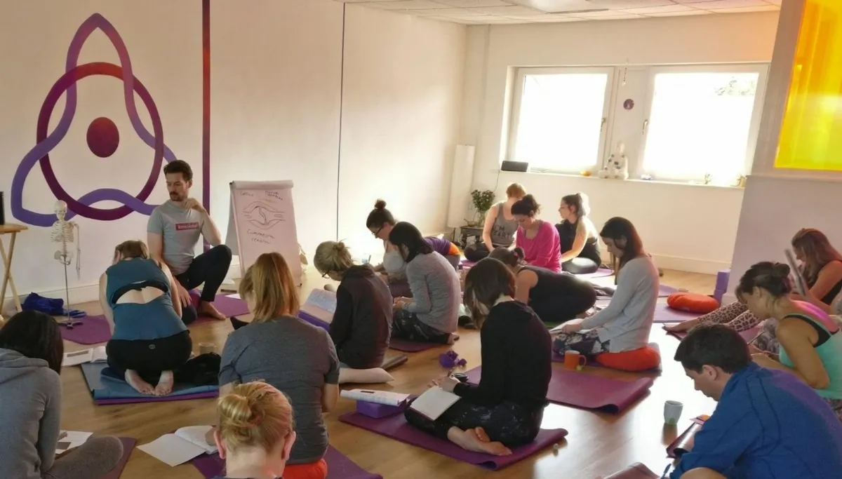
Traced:
[[56, 320], [42, 312], [18, 313], [0, 329], [0, 477], [99, 479], [123, 456], [120, 439], [93, 437], [56, 458], [63, 357]]

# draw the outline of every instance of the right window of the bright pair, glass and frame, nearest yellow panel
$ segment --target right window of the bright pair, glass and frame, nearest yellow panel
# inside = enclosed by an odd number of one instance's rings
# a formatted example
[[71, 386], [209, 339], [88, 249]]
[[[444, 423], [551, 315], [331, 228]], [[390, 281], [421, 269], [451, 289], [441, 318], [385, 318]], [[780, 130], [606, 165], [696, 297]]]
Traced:
[[745, 174], [757, 140], [765, 84], [761, 70], [653, 69], [642, 173], [713, 184], [732, 184]]

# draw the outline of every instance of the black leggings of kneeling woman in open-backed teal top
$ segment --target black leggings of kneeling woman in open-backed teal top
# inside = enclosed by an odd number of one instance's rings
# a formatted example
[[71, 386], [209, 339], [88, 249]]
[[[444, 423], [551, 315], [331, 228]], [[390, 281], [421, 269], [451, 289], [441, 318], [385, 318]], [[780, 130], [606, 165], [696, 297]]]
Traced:
[[152, 382], [157, 381], [161, 371], [178, 370], [190, 359], [192, 352], [189, 331], [167, 338], [112, 339], [105, 345], [108, 365], [115, 375], [123, 377], [126, 370], [134, 370], [145, 381]]

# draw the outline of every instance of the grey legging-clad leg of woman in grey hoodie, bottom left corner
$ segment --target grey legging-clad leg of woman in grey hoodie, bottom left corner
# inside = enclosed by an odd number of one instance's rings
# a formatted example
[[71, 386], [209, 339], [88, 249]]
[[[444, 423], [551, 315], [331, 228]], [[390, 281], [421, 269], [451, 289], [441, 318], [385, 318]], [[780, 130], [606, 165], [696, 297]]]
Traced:
[[100, 479], [123, 457], [123, 443], [111, 436], [92, 437], [56, 459], [43, 479]]

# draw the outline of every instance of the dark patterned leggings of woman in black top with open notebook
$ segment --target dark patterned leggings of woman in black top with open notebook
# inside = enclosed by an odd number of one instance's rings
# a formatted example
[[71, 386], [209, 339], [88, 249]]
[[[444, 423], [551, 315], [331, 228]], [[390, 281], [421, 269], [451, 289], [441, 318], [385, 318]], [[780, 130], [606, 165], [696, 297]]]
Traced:
[[412, 408], [407, 408], [403, 415], [414, 427], [441, 439], [447, 439], [450, 428], [464, 431], [482, 426], [492, 441], [499, 441], [506, 447], [517, 447], [535, 440], [541, 431], [544, 409], [530, 411], [513, 402], [480, 406], [460, 399], [435, 421], [425, 418]]

